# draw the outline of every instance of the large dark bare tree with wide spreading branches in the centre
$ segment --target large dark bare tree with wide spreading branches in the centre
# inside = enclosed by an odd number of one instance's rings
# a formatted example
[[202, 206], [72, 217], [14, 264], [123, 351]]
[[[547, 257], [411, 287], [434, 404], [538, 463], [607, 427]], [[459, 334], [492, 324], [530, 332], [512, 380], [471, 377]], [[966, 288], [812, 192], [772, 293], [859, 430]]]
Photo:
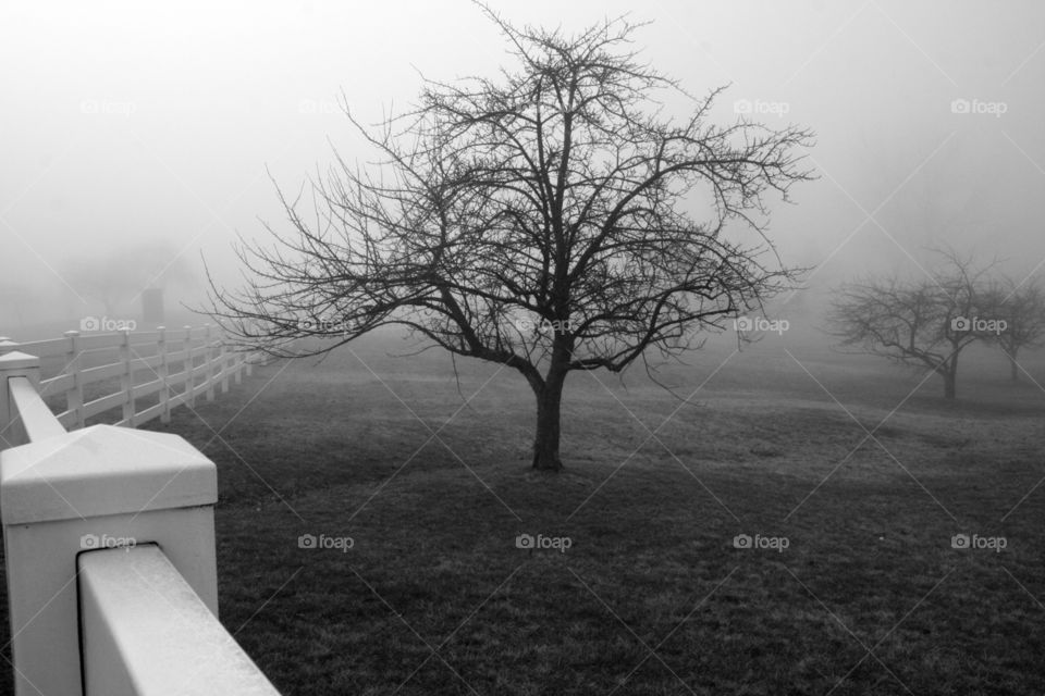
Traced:
[[[796, 270], [761, 261], [774, 250], [764, 198], [810, 177], [796, 151], [811, 135], [708, 123], [721, 90], [693, 99], [638, 62], [622, 18], [568, 36], [482, 10], [515, 65], [426, 80], [419, 104], [377, 132], [346, 104], [380, 161], [339, 157], [310, 182], [310, 213], [281, 192], [290, 234], [242, 245], [253, 279], [212, 284], [210, 313], [276, 356], [398, 324], [513, 368], [537, 398], [533, 467], [557, 470], [568, 373], [677, 357], [694, 332], [790, 286]], [[668, 117], [662, 96], [694, 110]], [[704, 221], [688, 211], [699, 195]], [[745, 229], [753, 243], [730, 240]], [[308, 336], [333, 340], [290, 346]]]

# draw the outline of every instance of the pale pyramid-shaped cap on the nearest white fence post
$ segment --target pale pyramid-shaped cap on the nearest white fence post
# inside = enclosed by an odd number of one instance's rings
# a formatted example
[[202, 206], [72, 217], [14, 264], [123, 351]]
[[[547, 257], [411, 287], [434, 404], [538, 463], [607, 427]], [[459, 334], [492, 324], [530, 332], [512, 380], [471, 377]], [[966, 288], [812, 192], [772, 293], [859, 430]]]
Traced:
[[4, 525], [217, 501], [213, 462], [177, 435], [91, 425], [0, 452]]

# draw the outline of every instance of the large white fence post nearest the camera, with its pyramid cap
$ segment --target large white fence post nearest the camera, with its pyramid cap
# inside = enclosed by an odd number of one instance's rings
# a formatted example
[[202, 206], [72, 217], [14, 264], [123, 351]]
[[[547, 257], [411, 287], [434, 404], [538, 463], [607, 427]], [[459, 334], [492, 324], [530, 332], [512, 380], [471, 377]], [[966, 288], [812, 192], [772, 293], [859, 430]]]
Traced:
[[15, 694], [83, 694], [82, 554], [156, 544], [217, 616], [217, 497], [214, 464], [176, 435], [91, 425], [0, 451]]

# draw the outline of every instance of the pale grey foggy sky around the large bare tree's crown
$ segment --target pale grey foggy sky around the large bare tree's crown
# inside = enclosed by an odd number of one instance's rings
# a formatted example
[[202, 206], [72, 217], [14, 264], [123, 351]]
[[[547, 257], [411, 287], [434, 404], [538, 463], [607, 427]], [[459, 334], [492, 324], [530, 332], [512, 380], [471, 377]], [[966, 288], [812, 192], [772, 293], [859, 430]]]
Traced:
[[[819, 178], [773, 201], [771, 229], [786, 263], [813, 268], [803, 308], [856, 275], [919, 273], [931, 246], [1019, 277], [1045, 260], [1041, 3], [492, 7], [565, 28], [630, 13], [650, 23], [642, 55], [691, 94], [730, 85], [717, 122], [747, 111], [813, 129]], [[114, 259], [169, 303], [198, 301], [201, 257], [234, 283], [236, 235], [282, 223], [273, 181], [296, 191], [332, 146], [368, 157], [342, 95], [374, 122], [408, 107], [421, 75], [505, 60], [465, 0], [5, 4], [0, 333], [136, 311], [140, 291], [113, 310], [86, 287]]]

